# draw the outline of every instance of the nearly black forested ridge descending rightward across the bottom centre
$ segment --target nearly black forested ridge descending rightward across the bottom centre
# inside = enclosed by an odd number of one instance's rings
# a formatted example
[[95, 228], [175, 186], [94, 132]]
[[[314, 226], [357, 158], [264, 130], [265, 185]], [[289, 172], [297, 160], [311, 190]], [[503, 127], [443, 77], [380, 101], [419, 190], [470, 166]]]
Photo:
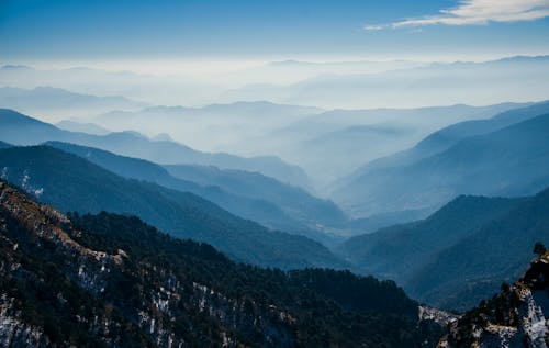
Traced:
[[[262, 308], [290, 312], [296, 319], [299, 346], [419, 346], [417, 304], [393, 282], [345, 271], [285, 273], [234, 263], [208, 245], [173, 239], [131, 216], [101, 213], [71, 214], [70, 218], [83, 231], [76, 240], [92, 249], [114, 252], [122, 248], [132, 262], [167, 268], [183, 283], [198, 282]], [[242, 333], [239, 337], [249, 343], [255, 339]]]

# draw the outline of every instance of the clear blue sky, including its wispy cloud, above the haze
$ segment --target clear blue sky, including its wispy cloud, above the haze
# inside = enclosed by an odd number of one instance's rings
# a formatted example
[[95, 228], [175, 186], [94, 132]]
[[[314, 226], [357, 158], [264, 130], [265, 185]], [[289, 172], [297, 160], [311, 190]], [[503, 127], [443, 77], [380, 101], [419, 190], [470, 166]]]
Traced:
[[0, 60], [549, 54], [549, 0], [0, 0]]

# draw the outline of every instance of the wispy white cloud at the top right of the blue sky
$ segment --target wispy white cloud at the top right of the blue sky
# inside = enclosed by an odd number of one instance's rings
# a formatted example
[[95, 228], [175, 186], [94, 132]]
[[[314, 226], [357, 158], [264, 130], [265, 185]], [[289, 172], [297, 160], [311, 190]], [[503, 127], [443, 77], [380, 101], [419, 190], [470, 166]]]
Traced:
[[480, 25], [489, 22], [535, 21], [549, 16], [549, 0], [461, 0], [456, 8], [436, 15], [408, 19], [386, 25], [365, 25], [365, 30], [410, 27], [433, 24]]

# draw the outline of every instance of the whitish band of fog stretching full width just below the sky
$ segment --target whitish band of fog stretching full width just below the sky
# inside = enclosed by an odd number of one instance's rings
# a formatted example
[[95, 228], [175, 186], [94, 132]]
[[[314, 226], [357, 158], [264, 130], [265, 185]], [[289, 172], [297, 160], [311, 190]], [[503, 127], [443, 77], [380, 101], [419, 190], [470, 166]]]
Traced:
[[149, 104], [267, 100], [323, 109], [419, 108], [544, 100], [548, 66], [548, 56], [455, 63], [288, 60], [224, 74], [173, 69], [152, 75], [113, 72], [112, 68], [4, 65], [0, 80], [7, 87], [52, 86], [85, 94], [125, 96]]

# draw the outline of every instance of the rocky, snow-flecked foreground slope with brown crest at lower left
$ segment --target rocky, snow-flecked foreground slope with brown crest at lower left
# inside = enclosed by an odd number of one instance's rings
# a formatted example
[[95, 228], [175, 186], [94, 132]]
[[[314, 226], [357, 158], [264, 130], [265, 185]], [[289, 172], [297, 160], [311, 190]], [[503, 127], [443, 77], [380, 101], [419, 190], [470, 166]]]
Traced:
[[[244, 329], [253, 330], [258, 344], [293, 346], [290, 313], [253, 303], [244, 308], [249, 303], [197, 282], [182, 283], [156, 265], [135, 263], [122, 249], [108, 254], [87, 248], [75, 240], [81, 232], [67, 216], [1, 181], [0, 192], [0, 346], [190, 347], [216, 341], [236, 347], [236, 333]], [[121, 284], [125, 279], [134, 282]], [[121, 294], [124, 287], [128, 292]], [[121, 295], [133, 299], [116, 299]], [[177, 321], [182, 316], [188, 319], [183, 328]]]

